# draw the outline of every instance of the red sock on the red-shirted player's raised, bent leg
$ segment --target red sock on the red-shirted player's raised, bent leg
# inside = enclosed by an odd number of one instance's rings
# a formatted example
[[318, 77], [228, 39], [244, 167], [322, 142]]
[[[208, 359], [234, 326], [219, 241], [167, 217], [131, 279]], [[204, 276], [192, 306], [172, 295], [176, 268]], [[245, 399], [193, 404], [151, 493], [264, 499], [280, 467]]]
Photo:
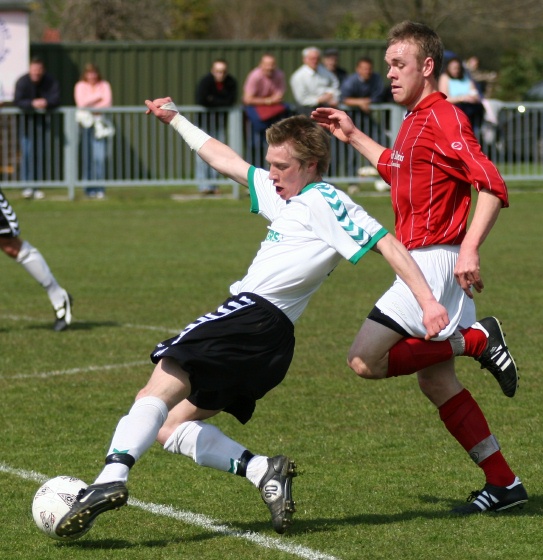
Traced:
[[410, 375], [428, 366], [446, 362], [453, 357], [448, 340], [402, 338], [388, 352], [387, 377]]

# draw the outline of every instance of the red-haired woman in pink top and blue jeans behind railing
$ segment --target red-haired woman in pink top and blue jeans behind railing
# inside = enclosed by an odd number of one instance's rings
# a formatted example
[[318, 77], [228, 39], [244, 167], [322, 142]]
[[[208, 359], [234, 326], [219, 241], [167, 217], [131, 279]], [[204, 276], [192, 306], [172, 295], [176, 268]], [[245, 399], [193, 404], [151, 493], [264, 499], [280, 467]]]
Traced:
[[76, 106], [90, 117], [86, 122], [83, 120], [80, 122], [83, 129], [81, 138], [83, 179], [96, 181], [97, 184], [85, 187], [85, 194], [89, 198], [102, 199], [105, 196], [105, 189], [100, 181], [106, 177], [108, 138], [104, 130], [111, 130], [111, 127], [99, 113], [86, 110], [111, 107], [113, 96], [110, 83], [102, 78], [96, 64], [91, 62], [85, 64], [81, 79], [75, 84], [74, 98]]

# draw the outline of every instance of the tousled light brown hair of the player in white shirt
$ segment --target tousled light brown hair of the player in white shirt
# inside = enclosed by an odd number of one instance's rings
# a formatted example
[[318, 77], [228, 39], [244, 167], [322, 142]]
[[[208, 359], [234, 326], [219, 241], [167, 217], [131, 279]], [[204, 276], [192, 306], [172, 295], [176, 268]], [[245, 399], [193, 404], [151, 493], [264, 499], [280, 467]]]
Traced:
[[292, 155], [302, 165], [317, 161], [317, 172], [324, 175], [330, 166], [330, 136], [305, 115], [294, 115], [276, 122], [266, 130], [270, 146], [289, 143]]

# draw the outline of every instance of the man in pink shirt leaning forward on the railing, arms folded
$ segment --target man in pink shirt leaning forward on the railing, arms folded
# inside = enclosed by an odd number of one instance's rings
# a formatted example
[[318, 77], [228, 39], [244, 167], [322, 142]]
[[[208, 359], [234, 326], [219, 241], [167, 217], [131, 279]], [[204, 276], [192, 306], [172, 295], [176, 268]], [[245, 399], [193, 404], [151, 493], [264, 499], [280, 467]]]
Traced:
[[277, 68], [272, 54], [264, 54], [243, 85], [243, 104], [251, 123], [252, 145], [259, 154], [266, 145], [266, 129], [288, 113], [288, 105], [283, 103], [285, 91], [284, 72]]

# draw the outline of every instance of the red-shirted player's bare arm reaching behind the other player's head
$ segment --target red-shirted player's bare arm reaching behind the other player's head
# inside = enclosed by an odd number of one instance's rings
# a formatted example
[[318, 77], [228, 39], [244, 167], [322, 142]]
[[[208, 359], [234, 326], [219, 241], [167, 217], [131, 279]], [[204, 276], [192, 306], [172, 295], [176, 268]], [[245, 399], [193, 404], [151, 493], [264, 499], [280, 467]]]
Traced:
[[311, 113], [311, 118], [338, 140], [351, 144], [374, 167], [377, 167], [385, 147], [356, 128], [351, 117], [345, 111], [331, 107], [318, 107]]

